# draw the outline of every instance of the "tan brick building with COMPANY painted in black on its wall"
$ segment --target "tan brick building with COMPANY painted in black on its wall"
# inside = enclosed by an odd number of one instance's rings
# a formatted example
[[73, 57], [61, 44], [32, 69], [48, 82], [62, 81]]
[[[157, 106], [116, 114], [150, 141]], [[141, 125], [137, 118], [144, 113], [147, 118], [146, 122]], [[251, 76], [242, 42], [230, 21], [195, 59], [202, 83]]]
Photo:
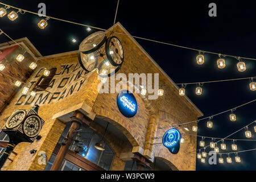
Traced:
[[[115, 31], [129, 34], [120, 23], [115, 25]], [[106, 35], [109, 36], [109, 32]], [[185, 142], [181, 143], [178, 154], [171, 154], [163, 144], [159, 144], [162, 139], [153, 138], [166, 132], [159, 127], [194, 121], [203, 114], [189, 98], [179, 96], [175, 83], [135, 39], [122, 34], [115, 36], [121, 40], [125, 52], [125, 61], [118, 73], [159, 73], [159, 83], [170, 84], [163, 88], [164, 95], [156, 100], [134, 93], [138, 111], [131, 118], [118, 110], [118, 93], [98, 93], [101, 81], [97, 72], [87, 73], [80, 67], [77, 51], [42, 56], [27, 38], [23, 38], [16, 42], [30, 54], [26, 53], [26, 59], [18, 63], [15, 56], [22, 50], [13, 42], [0, 44], [1, 61], [6, 57], [10, 63], [3, 73], [15, 78], [23, 77], [27, 84], [47, 90], [37, 90], [35, 97], [23, 95], [22, 86], [15, 87], [15, 80], [0, 72], [0, 127], [5, 125], [15, 109], [30, 109], [36, 104], [40, 106], [39, 116], [45, 121], [39, 133], [42, 138], [33, 143], [19, 143], [2, 170], [51, 169], [56, 163], [56, 156], [60, 155], [61, 143], [71, 129], [70, 121], [74, 115], [82, 121], [77, 127], [82, 139], [81, 148], [76, 151], [77, 143], [72, 142], [58, 161], [59, 170], [196, 169], [196, 154], [187, 154], [196, 149], [196, 137], [184, 136]], [[28, 65], [36, 58], [40, 61], [32, 71]], [[43, 68], [50, 69], [48, 78], [40, 76]], [[185, 133], [183, 127], [179, 130]], [[102, 137], [104, 151], [94, 147]], [[7, 143], [8, 137], [0, 133], [0, 153]], [[30, 154], [31, 150], [36, 152]]]

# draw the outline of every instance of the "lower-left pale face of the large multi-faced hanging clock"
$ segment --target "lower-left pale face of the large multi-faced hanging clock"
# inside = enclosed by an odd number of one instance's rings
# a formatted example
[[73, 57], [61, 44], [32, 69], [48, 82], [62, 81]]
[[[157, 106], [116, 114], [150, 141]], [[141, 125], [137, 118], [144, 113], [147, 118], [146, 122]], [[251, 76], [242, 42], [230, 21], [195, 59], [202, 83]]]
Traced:
[[96, 69], [98, 64], [98, 56], [94, 53], [84, 54], [79, 51], [79, 63], [85, 71], [92, 72]]

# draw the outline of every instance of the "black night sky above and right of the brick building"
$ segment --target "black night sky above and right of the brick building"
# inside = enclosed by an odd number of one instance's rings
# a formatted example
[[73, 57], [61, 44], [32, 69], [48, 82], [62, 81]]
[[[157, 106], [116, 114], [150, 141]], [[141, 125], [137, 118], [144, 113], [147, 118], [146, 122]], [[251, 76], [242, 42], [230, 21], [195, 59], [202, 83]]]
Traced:
[[[37, 12], [38, 3], [47, 6], [47, 15], [78, 23], [89, 24], [108, 29], [113, 26], [117, 1], [1, 1], [22, 9]], [[217, 17], [209, 17], [208, 5], [217, 4]], [[72, 4], [71, 4], [72, 3]], [[1, 5], [0, 5], [1, 6]], [[2, 7], [2, 6], [1, 6]], [[256, 6], [253, 1], [143, 1], [120, 0], [117, 21], [131, 35], [143, 38], [174, 43], [205, 51], [256, 58]], [[10, 12], [10, 10], [9, 10]], [[13, 39], [27, 37], [43, 56], [55, 53], [75, 51], [79, 43], [89, 35], [86, 27], [49, 20], [48, 27], [40, 30], [37, 23], [41, 18], [32, 14], [19, 15], [11, 22], [7, 16], [0, 19], [0, 28]], [[72, 43], [72, 38], [78, 42]], [[0, 43], [9, 41], [0, 36]], [[205, 53], [205, 63], [196, 64], [198, 52], [171, 47], [159, 43], [137, 39], [139, 44], [151, 55], [162, 69], [176, 83], [202, 82], [256, 76], [256, 61], [245, 60], [246, 71], [238, 72], [237, 60], [226, 57], [226, 68], [218, 69], [217, 55]], [[129, 61], [129, 60], [126, 60]], [[138, 60], [139, 61], [139, 60]], [[255, 79], [256, 81], [256, 79]], [[196, 85], [188, 85], [187, 96], [204, 113], [204, 117], [220, 113], [238, 105], [255, 100], [256, 91], [249, 89], [249, 79], [242, 81], [204, 84], [203, 94], [195, 94]], [[165, 88], [168, 89], [168, 88]], [[243, 106], [235, 111], [236, 122], [229, 121], [229, 114], [213, 118], [213, 129], [206, 127], [206, 122], [199, 123], [198, 135], [224, 138], [241, 129], [256, 119], [256, 102]], [[256, 139], [253, 126], [249, 130]], [[245, 138], [245, 130], [230, 138]], [[201, 140], [201, 138], [198, 138]], [[210, 140], [205, 140], [208, 145]], [[185, 143], [184, 143], [185, 144]], [[230, 150], [231, 142], [226, 142]], [[256, 142], [237, 142], [238, 151], [256, 148]], [[220, 148], [220, 144], [218, 146]], [[197, 148], [199, 148], [199, 143]], [[207, 152], [209, 149], [207, 150]], [[221, 151], [221, 150], [220, 150]], [[239, 154], [242, 162], [210, 166], [197, 159], [197, 170], [256, 170], [256, 151]], [[170, 154], [171, 155], [171, 154]], [[218, 163], [218, 162], [217, 162]]]

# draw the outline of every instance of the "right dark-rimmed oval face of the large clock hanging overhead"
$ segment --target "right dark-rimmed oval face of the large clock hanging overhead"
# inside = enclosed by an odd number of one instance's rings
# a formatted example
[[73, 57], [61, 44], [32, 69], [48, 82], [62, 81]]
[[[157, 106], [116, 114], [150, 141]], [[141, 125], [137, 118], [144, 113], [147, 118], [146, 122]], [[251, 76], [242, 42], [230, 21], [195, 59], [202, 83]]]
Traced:
[[107, 40], [106, 55], [110, 63], [114, 66], [118, 66], [123, 63], [123, 46], [117, 37], [112, 36]]

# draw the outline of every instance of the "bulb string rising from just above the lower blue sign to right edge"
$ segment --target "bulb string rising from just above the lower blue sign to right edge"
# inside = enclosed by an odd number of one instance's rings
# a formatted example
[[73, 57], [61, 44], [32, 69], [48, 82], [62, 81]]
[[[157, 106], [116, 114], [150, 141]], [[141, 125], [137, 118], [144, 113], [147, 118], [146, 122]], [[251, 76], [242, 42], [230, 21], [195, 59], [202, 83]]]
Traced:
[[[201, 118], [201, 119], [197, 119], [195, 121], [189, 121], [189, 122], [185, 122], [185, 123], [180, 123], [178, 125], [173, 125], [173, 126], [165, 126], [165, 127], [158, 127], [158, 129], [166, 129], [167, 127], [169, 128], [174, 128], [174, 127], [180, 127], [180, 126], [183, 126], [183, 125], [188, 125], [189, 123], [199, 123], [200, 121], [204, 120], [204, 119], [209, 119], [209, 121], [207, 122], [207, 127], [209, 128], [212, 128], [213, 127], [213, 122], [212, 122], [212, 119], [213, 117], [215, 117], [216, 115], [220, 115], [220, 114], [224, 114], [226, 112], [231, 112], [231, 114], [229, 115], [229, 119], [230, 121], [236, 121], [237, 118], [236, 118], [236, 114], [234, 114], [233, 112], [239, 108], [239, 107], [242, 107], [242, 106], [245, 106], [245, 105], [248, 105], [248, 104], [251, 104], [252, 102], [255, 102], [255, 100], [252, 100], [252, 101], [249, 101], [249, 102], [246, 102], [245, 104], [242, 104], [242, 105], [239, 105], [239, 106], [236, 106], [236, 107], [233, 107], [232, 109], [229, 109], [229, 110], [225, 110], [225, 111], [222, 111], [220, 113], [217, 113], [217, 114], [213, 114], [213, 115], [210, 115], [209, 117], [205, 117], [205, 118]], [[184, 127], [185, 130], [189, 131], [189, 128], [188, 127]], [[194, 130], [196, 129], [197, 131], [197, 128], [194, 127]]]

